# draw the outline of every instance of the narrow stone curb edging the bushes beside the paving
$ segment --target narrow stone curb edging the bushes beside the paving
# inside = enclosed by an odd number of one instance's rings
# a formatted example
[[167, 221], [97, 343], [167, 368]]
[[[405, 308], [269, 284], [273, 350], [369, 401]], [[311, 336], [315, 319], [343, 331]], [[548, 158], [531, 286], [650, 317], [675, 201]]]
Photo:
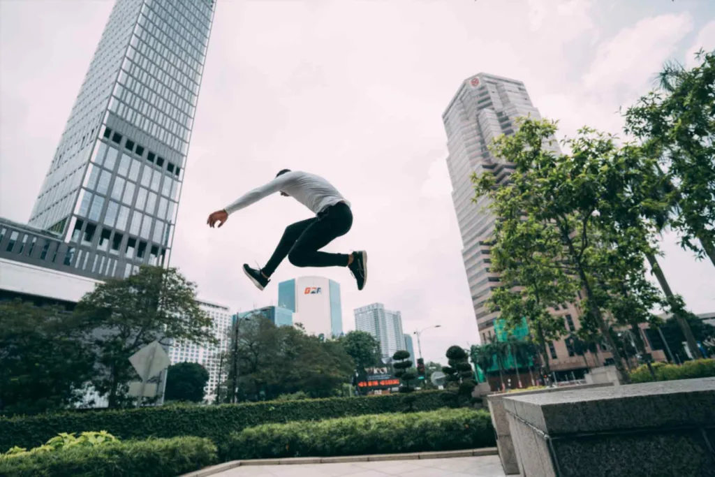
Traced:
[[418, 459], [440, 459], [455, 457], [496, 456], [497, 448], [465, 449], [464, 451], [417, 452], [405, 454], [376, 454], [374, 456], [340, 456], [340, 457], [295, 457], [277, 459], [254, 459], [251, 461], [230, 461], [217, 466], [202, 468], [200, 471], [184, 473], [179, 477], [208, 477], [241, 466], [287, 466], [316, 463], [352, 463], [379, 461], [415, 461]]

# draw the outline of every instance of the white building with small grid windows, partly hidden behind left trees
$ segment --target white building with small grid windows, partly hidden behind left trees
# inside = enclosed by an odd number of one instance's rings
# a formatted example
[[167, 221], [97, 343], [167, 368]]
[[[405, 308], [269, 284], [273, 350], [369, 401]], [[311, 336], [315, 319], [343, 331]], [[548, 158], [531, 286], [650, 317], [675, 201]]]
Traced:
[[197, 300], [199, 308], [204, 310], [213, 321], [213, 335], [217, 344], [207, 343], [174, 343], [169, 348], [169, 360], [176, 363], [199, 363], [209, 372], [209, 382], [206, 384], [205, 398], [212, 400], [219, 385], [220, 353], [225, 353], [231, 340], [230, 329], [233, 315], [227, 306]]

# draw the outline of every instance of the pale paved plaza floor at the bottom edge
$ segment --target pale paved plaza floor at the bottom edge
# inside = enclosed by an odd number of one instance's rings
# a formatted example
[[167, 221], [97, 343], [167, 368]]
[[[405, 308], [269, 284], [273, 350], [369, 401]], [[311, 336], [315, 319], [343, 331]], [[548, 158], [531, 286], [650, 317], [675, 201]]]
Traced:
[[216, 477], [505, 477], [499, 456], [241, 466], [214, 475]]

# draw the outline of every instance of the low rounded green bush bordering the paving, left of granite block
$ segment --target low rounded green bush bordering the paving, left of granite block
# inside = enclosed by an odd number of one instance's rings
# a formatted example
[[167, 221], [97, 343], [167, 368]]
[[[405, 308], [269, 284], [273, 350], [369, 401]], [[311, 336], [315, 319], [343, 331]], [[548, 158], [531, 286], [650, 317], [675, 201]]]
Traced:
[[494, 445], [489, 413], [463, 408], [264, 424], [231, 433], [220, 445], [220, 454], [223, 460], [232, 461], [453, 451]]

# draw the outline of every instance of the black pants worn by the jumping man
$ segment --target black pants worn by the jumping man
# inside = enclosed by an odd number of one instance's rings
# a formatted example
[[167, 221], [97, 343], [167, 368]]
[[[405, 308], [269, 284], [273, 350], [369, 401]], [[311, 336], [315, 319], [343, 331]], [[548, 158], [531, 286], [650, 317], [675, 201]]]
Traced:
[[318, 252], [352, 227], [352, 211], [345, 202], [327, 207], [317, 217], [288, 225], [262, 272], [269, 276], [287, 256], [296, 267], [345, 267], [348, 255]]

